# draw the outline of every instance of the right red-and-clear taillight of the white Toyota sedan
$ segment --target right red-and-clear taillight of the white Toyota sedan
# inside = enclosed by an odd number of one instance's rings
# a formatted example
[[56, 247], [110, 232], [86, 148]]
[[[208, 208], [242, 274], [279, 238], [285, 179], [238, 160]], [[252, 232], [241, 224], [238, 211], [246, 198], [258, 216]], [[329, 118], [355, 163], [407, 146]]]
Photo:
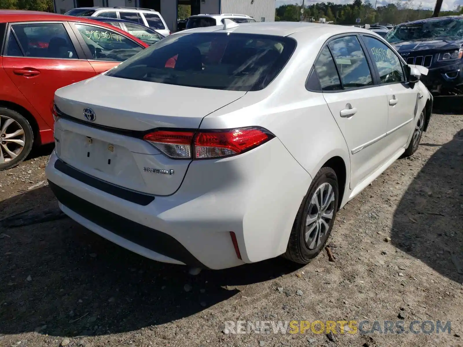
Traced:
[[170, 158], [209, 159], [246, 152], [274, 137], [266, 129], [251, 127], [198, 132], [158, 130], [143, 138]]

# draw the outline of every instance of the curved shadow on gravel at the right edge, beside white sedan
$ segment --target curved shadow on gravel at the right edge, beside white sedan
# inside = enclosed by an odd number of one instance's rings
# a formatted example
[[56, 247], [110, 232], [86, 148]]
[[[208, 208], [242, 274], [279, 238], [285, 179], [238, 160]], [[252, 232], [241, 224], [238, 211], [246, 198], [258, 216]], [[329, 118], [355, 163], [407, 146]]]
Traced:
[[391, 239], [438, 273], [463, 282], [463, 130], [413, 179], [394, 213]]

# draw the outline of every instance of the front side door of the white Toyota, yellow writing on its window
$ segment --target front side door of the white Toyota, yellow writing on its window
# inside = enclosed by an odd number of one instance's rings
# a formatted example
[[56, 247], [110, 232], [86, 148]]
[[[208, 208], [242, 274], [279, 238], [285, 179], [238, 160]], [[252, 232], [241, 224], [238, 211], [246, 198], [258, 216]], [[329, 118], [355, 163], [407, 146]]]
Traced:
[[405, 80], [400, 58], [385, 43], [375, 37], [363, 35], [362, 40], [374, 63], [379, 83], [388, 95], [388, 128], [386, 143], [388, 155], [403, 148], [414, 126], [418, 86]]

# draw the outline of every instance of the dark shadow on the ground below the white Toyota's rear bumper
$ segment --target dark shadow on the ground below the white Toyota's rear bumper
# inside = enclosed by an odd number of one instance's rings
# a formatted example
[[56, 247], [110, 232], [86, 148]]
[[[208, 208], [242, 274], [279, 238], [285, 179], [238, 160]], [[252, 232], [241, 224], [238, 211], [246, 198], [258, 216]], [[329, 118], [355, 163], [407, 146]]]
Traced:
[[[56, 205], [45, 186], [0, 202], [0, 220]], [[236, 286], [300, 268], [277, 258], [190, 276], [186, 266], [146, 259], [69, 218], [0, 233], [7, 235], [0, 235], [0, 334], [79, 336], [150, 328], [233, 297]], [[184, 290], [187, 284], [191, 291]]]

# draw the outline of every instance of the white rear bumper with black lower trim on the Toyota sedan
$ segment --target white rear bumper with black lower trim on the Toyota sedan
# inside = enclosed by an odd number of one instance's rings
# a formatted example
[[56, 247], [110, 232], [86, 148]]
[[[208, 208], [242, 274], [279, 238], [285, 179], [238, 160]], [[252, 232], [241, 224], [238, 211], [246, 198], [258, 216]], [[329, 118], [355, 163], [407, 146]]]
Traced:
[[61, 209], [76, 222], [150, 259], [211, 269], [284, 253], [311, 183], [277, 138], [236, 157], [193, 161], [175, 194], [151, 201], [109, 190], [106, 182], [96, 186], [60, 163], [53, 153], [46, 175]]

